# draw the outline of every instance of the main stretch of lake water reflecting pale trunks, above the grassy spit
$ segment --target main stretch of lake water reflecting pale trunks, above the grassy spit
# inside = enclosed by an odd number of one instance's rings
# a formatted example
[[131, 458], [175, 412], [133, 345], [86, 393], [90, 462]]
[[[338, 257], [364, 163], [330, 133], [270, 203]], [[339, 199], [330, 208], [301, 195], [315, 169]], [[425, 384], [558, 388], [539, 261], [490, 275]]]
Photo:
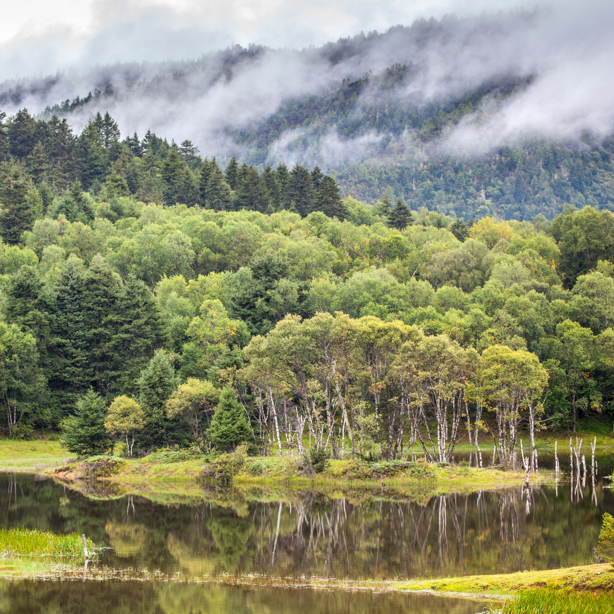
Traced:
[[94, 500], [51, 481], [0, 477], [4, 527], [85, 533], [110, 546], [106, 565], [190, 576], [394, 579], [567, 567], [592, 561], [601, 517], [614, 512], [612, 491], [590, 476], [584, 485], [418, 501], [253, 495], [220, 490], [169, 505]]

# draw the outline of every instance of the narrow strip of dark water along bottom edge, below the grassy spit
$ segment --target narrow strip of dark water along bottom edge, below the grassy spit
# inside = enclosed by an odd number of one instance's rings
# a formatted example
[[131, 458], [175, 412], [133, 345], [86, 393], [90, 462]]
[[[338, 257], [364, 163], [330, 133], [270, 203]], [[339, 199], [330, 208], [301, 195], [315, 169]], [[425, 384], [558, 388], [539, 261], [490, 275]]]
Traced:
[[399, 593], [155, 582], [0, 583], [1, 614], [475, 614], [485, 605]]

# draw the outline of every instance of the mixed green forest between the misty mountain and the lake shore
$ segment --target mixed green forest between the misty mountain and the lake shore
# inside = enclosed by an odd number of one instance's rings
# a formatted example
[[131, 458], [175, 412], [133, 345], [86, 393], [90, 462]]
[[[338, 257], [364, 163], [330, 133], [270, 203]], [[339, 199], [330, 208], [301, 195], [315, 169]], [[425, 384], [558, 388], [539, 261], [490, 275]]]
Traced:
[[613, 413], [610, 211], [465, 222], [390, 191], [342, 199], [318, 167], [122, 140], [108, 113], [79, 135], [3, 120], [13, 436], [388, 459], [418, 443], [438, 462], [488, 436], [507, 464], [521, 429]]

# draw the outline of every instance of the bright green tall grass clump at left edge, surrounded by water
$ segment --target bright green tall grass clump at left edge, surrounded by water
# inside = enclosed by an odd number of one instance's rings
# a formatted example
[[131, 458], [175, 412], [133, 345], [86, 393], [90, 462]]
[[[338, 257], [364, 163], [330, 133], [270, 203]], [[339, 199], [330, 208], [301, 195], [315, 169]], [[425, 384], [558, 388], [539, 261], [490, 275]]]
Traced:
[[[86, 539], [86, 544], [91, 558], [96, 546], [91, 539]], [[3, 556], [64, 557], [75, 563], [85, 561], [80, 535], [56, 535], [36, 529], [0, 530], [0, 553]]]

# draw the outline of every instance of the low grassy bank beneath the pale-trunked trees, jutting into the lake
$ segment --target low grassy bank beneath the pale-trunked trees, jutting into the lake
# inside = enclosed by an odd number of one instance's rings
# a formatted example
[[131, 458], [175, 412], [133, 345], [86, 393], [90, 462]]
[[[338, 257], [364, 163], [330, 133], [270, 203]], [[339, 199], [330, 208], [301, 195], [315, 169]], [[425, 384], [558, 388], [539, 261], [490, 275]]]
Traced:
[[[161, 452], [142, 459], [94, 457], [50, 472], [88, 496], [138, 494], [157, 501], [202, 498], [203, 488], [219, 480], [202, 459], [185, 459], [183, 452]], [[416, 463], [365, 463], [337, 460], [315, 474], [296, 456], [241, 459], [233, 490], [248, 498], [281, 498], [293, 491], [315, 490], [330, 497], [359, 496], [382, 499], [421, 499], [444, 493], [465, 493], [520, 486], [524, 473], [466, 466]], [[532, 476], [533, 483], [552, 481], [552, 474]], [[285, 492], [281, 492], [285, 491]], [[290, 493], [290, 494], [289, 494]]]

